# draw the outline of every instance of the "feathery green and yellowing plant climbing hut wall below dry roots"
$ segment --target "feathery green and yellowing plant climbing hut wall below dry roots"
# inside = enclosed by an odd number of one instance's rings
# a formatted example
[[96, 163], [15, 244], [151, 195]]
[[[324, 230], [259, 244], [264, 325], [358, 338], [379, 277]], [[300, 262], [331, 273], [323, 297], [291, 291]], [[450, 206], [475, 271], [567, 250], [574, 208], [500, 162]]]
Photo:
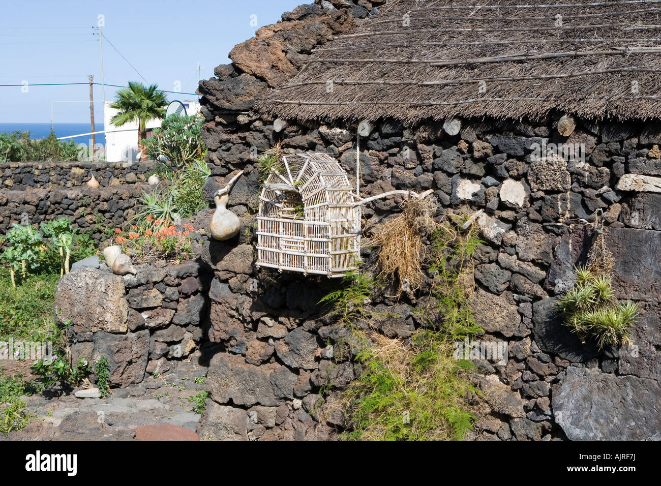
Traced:
[[334, 405], [349, 419], [344, 438], [461, 440], [471, 430], [475, 415], [467, 397], [479, 394], [470, 383], [474, 366], [454, 358], [453, 344], [483, 332], [475, 324], [465, 288], [465, 276], [473, 271], [471, 255], [481, 242], [472, 227], [459, 229], [461, 223], [446, 223], [432, 233], [427, 270], [434, 286], [429, 304], [416, 307], [425, 324], [410, 339], [389, 339], [356, 326], [360, 319], [369, 323], [376, 317], [363, 307], [374, 290], [369, 276], [348, 276], [342, 288], [323, 298], [334, 302], [340, 321], [351, 327], [350, 339], [359, 344], [360, 374]]

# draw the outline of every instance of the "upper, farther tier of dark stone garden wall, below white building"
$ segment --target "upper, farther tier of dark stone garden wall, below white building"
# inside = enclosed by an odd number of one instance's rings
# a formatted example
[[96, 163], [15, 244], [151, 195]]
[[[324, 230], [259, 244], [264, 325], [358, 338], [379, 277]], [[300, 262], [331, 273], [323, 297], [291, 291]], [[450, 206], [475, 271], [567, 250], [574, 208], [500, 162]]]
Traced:
[[0, 163], [0, 189], [65, 188], [85, 186], [94, 175], [100, 186], [146, 181], [157, 167], [145, 162], [4, 162]]

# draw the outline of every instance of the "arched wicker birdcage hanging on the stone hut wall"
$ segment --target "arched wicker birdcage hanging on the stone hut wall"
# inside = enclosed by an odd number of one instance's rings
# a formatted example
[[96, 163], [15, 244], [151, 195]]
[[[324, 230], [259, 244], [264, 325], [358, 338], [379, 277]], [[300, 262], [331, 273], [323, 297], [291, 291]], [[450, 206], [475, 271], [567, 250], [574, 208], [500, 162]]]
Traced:
[[326, 153], [285, 155], [260, 196], [257, 265], [344, 276], [360, 260], [360, 205]]

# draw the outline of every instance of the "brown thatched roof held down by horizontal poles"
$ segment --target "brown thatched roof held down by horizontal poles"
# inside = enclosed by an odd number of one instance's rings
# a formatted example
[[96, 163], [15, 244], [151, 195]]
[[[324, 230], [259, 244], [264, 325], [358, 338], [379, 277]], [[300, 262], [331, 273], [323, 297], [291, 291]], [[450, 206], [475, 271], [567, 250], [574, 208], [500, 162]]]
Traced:
[[660, 101], [661, 0], [389, 0], [257, 108], [297, 120], [647, 119]]

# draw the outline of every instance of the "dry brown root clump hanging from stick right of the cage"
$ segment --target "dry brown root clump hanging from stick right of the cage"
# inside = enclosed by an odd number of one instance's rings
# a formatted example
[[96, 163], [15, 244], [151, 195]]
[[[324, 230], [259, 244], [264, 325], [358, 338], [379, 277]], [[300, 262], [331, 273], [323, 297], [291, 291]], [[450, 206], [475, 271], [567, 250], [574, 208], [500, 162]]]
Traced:
[[403, 282], [411, 290], [422, 285], [424, 273], [422, 261], [425, 245], [423, 238], [438, 228], [434, 221], [436, 204], [424, 198], [408, 198], [402, 205], [401, 214], [381, 225], [371, 238], [371, 243], [381, 247], [378, 264], [381, 276], [399, 278], [401, 294]]

